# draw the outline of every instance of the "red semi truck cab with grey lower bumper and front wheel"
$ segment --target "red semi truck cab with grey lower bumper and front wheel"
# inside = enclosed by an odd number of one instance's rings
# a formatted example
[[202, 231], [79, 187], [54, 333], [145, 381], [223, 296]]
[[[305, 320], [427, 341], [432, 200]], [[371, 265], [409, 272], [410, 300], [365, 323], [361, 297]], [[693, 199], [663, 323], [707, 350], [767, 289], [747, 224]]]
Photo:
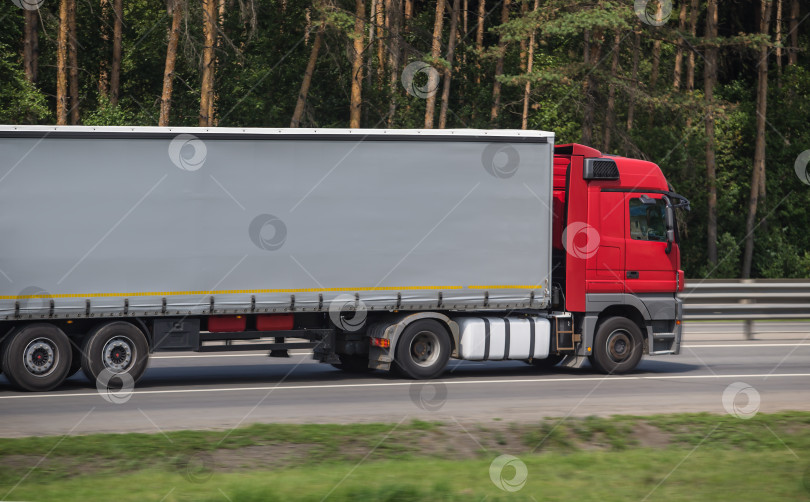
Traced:
[[624, 359], [636, 359], [633, 324], [644, 353], [677, 354], [684, 273], [675, 208], [689, 202], [654, 163], [578, 144], [555, 147], [553, 176], [553, 306], [573, 313], [577, 356], [623, 372]]

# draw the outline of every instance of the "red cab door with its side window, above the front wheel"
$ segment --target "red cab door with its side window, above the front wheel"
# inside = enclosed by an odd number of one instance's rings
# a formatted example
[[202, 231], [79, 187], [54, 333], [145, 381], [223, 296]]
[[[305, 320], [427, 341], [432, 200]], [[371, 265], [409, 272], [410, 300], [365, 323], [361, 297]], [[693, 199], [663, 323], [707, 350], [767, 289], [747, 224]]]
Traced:
[[678, 250], [667, 242], [666, 199], [656, 193], [624, 195], [626, 291], [674, 293]]

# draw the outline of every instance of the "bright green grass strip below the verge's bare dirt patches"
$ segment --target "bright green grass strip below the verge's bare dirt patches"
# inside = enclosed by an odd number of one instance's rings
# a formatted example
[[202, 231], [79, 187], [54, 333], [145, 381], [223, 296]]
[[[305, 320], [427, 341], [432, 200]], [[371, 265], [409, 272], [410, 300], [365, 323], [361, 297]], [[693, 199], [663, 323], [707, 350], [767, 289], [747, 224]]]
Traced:
[[[214, 473], [190, 480], [157, 470], [23, 483], [15, 500], [204, 501], [538, 501], [808, 500], [802, 465], [779, 452], [673, 448], [521, 457], [528, 476], [507, 492], [490, 479], [490, 462], [383, 460], [275, 471]], [[677, 467], [677, 468], [676, 468]], [[514, 473], [505, 473], [511, 479]]]

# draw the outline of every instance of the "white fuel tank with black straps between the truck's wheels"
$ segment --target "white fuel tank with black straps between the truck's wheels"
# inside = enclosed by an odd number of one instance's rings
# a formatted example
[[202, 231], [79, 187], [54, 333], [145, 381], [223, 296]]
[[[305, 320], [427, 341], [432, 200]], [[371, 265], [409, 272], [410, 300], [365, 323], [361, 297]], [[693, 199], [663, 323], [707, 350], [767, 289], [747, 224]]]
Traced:
[[544, 317], [461, 317], [459, 359], [545, 359], [551, 323]]

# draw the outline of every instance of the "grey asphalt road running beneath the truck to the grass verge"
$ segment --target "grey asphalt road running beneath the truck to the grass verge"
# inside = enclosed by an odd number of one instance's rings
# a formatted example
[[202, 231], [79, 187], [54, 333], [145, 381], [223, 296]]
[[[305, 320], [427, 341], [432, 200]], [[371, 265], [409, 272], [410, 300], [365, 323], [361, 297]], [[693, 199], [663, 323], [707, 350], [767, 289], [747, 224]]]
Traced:
[[156, 354], [132, 392], [98, 392], [81, 374], [44, 394], [0, 376], [0, 436], [160, 433], [255, 422], [472, 423], [543, 417], [810, 410], [810, 323], [687, 323], [682, 353], [645, 357], [629, 375], [587, 364], [542, 372], [519, 361], [451, 361], [443, 378], [356, 376], [307, 354]]

